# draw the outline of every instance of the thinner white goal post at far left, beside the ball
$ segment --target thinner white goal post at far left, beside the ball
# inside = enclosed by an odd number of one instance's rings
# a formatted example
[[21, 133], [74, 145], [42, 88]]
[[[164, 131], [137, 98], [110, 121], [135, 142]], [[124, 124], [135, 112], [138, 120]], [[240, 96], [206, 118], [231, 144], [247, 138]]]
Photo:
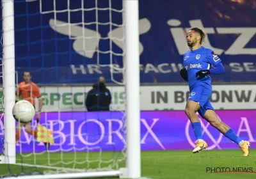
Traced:
[[4, 162], [16, 163], [15, 120], [15, 42], [14, 6], [12, 0], [3, 0], [3, 95], [4, 95]]

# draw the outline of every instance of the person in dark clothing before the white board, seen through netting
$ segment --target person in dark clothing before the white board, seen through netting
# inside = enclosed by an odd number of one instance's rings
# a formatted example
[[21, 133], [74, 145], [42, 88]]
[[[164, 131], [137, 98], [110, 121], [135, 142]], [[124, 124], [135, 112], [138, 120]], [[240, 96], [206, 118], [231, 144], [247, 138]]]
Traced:
[[99, 81], [93, 84], [86, 97], [87, 111], [109, 111], [109, 105], [111, 103], [111, 93], [106, 88], [105, 78], [99, 77]]

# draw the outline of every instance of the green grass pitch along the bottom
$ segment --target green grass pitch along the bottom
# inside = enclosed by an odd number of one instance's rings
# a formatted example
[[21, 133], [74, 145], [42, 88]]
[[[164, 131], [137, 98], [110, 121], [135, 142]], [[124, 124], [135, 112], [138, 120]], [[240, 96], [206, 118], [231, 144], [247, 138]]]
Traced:
[[[115, 157], [115, 156], [114, 156]], [[20, 160], [20, 156], [17, 155], [17, 163], [34, 164], [34, 156], [24, 157], [24, 160]], [[84, 168], [86, 164], [86, 153], [76, 153], [76, 161], [83, 164], [76, 164], [74, 166], [74, 153], [44, 153], [36, 155], [36, 164], [47, 164], [49, 161], [52, 164], [58, 162], [66, 162], [65, 165], [58, 164], [61, 167], [76, 167]], [[99, 158], [99, 152], [92, 152], [88, 156], [90, 161], [90, 167], [99, 167], [99, 159], [106, 161], [113, 159], [113, 152], [103, 152]], [[106, 164], [101, 163], [100, 167], [104, 167]], [[125, 162], [120, 162], [119, 167], [124, 167]], [[256, 178], [256, 173], [210, 173], [206, 172], [207, 167], [252, 167], [253, 171], [256, 171], [256, 150], [250, 150], [249, 157], [243, 157], [241, 150], [204, 150], [200, 153], [193, 154], [191, 150], [181, 151], [152, 151], [152, 152], [141, 152], [141, 175], [152, 179], [172, 179], [172, 178]], [[35, 171], [34, 167], [24, 167], [16, 165], [0, 164], [0, 175], [10, 173], [25, 173]], [[38, 171], [44, 169], [37, 168]], [[1, 178], [1, 177], [0, 177]]]

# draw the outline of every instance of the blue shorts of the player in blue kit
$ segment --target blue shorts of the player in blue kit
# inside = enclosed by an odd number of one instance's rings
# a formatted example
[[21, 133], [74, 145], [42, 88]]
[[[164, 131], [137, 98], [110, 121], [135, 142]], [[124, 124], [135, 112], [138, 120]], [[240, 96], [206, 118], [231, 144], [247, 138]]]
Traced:
[[212, 90], [205, 88], [202, 85], [196, 85], [192, 89], [190, 89], [188, 100], [198, 102], [198, 104], [200, 105], [200, 109], [198, 109], [197, 112], [200, 114], [200, 116], [202, 116], [202, 118], [204, 118], [204, 114], [207, 109], [214, 110], [210, 102], [211, 94]]

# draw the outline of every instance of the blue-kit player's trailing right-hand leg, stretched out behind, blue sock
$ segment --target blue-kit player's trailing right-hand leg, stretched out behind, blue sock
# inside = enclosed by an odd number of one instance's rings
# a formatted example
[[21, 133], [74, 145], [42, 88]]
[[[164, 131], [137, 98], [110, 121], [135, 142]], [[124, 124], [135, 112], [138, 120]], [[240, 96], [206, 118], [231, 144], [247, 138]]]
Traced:
[[[207, 104], [211, 106], [211, 103]], [[220, 121], [218, 116], [216, 115], [215, 111], [211, 108], [207, 109], [204, 114], [205, 120], [207, 120], [213, 127], [217, 128], [225, 137], [233, 141], [234, 143], [238, 144], [243, 151], [244, 156], [249, 155], [249, 141], [243, 141], [240, 137], [236, 135], [236, 133], [232, 130], [232, 128], [228, 127], [227, 124]]]

